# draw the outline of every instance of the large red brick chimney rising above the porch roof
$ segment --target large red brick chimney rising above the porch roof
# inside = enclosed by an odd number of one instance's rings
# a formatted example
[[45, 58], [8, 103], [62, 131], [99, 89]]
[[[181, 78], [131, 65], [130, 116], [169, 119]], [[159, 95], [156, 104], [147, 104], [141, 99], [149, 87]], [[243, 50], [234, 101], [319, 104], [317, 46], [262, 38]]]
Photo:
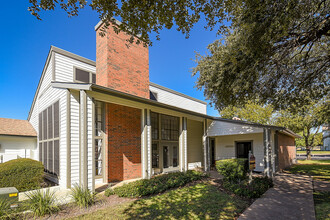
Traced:
[[[130, 35], [116, 34], [110, 25], [96, 30], [96, 84], [149, 99], [149, 50], [142, 44], [126, 46]], [[112, 24], [116, 25], [116, 24]]]

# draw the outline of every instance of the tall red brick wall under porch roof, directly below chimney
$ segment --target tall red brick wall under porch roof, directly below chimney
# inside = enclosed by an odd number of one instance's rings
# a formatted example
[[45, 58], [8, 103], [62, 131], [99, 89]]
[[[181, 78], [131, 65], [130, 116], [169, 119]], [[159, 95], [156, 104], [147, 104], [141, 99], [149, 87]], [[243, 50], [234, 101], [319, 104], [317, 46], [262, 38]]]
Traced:
[[141, 110], [107, 104], [108, 181], [140, 178]]

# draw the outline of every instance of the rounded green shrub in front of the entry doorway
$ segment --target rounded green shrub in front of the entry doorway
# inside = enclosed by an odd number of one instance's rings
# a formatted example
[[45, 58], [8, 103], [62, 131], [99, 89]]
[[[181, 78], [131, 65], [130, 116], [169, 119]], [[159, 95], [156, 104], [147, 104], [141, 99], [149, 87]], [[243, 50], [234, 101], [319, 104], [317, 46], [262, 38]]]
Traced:
[[239, 183], [247, 178], [248, 161], [243, 158], [218, 160], [216, 168], [225, 181]]

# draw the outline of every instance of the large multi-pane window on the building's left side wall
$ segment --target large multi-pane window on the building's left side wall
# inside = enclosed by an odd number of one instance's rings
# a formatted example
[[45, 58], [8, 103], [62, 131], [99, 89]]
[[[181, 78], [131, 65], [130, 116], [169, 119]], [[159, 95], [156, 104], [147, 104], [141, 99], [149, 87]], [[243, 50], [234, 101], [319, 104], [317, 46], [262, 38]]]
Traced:
[[39, 113], [39, 161], [45, 171], [60, 173], [60, 114], [59, 101]]

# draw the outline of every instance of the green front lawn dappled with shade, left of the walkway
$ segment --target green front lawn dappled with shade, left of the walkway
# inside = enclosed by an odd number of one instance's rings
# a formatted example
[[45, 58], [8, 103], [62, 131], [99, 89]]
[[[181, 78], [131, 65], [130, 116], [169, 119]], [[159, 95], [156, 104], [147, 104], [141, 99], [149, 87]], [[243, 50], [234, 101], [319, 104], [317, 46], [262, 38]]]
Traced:
[[213, 185], [200, 183], [75, 219], [235, 219], [248, 205]]

